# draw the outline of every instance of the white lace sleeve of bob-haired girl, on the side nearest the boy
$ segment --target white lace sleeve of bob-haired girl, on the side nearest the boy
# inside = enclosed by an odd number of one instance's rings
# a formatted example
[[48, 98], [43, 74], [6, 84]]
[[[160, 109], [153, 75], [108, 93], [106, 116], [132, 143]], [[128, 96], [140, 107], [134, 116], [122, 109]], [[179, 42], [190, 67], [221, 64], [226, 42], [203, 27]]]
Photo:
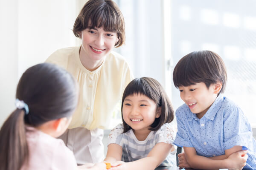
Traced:
[[171, 125], [166, 123], [161, 126], [161, 128], [157, 131], [159, 133], [157, 143], [164, 142], [173, 145], [176, 132], [177, 132], [177, 125]]

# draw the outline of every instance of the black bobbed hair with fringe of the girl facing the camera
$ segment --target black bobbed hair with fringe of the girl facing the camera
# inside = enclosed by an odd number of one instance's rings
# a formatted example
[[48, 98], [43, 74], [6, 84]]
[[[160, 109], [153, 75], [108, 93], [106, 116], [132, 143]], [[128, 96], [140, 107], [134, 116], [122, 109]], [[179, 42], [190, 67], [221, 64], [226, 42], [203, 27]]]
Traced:
[[[149, 130], [158, 130], [163, 124], [172, 122], [174, 118], [172, 104], [169, 101], [166, 92], [163, 90], [163, 87], [159, 82], [157, 82], [157, 80], [149, 77], [141, 77], [132, 80], [125, 88], [124, 94], [122, 96], [121, 111], [125, 98], [134, 94], [145, 95], [156, 103], [157, 108], [161, 107], [160, 117], [154, 120]], [[124, 121], [123, 117], [122, 122], [124, 126], [123, 133], [125, 133], [130, 130], [131, 127]]]

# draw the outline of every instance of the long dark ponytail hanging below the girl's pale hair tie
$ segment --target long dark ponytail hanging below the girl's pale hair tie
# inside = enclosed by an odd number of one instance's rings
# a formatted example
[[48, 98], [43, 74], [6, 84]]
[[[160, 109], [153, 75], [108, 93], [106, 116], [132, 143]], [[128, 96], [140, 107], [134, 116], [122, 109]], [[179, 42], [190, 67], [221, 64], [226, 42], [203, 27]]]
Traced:
[[16, 109], [0, 129], [0, 170], [20, 170], [29, 157], [24, 115]]

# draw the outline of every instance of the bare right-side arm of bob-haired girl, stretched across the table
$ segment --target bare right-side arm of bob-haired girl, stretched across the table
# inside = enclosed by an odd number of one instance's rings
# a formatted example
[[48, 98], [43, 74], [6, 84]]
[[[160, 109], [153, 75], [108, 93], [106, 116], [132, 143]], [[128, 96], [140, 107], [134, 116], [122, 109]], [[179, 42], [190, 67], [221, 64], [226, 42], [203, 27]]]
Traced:
[[111, 170], [154, 170], [166, 159], [172, 147], [172, 144], [157, 143], [147, 157], [132, 162], [118, 161], [111, 164]]

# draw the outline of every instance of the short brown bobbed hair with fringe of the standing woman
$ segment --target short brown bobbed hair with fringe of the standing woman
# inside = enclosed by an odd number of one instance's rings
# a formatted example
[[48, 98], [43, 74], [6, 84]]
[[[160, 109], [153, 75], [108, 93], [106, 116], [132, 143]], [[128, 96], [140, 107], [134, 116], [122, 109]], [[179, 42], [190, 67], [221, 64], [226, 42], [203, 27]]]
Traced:
[[105, 31], [116, 32], [115, 47], [125, 42], [125, 22], [119, 7], [112, 0], [89, 0], [81, 9], [73, 26], [73, 33], [80, 37], [86, 28], [103, 28]]

